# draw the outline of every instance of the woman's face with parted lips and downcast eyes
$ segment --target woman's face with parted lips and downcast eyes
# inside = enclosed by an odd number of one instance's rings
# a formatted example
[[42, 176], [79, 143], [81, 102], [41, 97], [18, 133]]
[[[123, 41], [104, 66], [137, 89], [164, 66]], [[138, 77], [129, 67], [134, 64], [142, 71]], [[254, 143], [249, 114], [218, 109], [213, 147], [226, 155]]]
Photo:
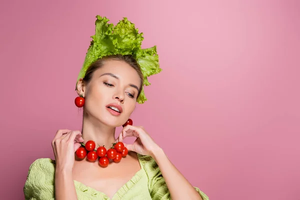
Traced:
[[124, 61], [106, 60], [83, 86], [87, 117], [109, 126], [120, 126], [135, 108], [140, 77]]

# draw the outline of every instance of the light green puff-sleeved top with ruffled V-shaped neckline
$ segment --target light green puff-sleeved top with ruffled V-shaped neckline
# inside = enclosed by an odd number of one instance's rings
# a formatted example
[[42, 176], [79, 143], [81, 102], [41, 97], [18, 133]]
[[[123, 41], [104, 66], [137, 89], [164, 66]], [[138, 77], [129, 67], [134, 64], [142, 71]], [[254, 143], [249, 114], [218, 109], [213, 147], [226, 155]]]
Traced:
[[[157, 163], [151, 156], [138, 155], [141, 169], [111, 198], [117, 199], [170, 199], [170, 193]], [[24, 185], [25, 199], [54, 199], [55, 162], [50, 158], [36, 159], [29, 167]], [[106, 194], [74, 180], [78, 199], [110, 199]], [[199, 188], [194, 187], [203, 200], [209, 200]]]

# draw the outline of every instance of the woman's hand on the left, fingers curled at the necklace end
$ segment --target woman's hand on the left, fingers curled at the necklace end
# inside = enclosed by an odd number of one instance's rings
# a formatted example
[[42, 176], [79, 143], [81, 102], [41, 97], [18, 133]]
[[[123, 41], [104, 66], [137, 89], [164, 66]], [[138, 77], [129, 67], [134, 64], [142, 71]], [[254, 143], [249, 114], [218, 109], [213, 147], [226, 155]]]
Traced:
[[72, 170], [75, 159], [74, 152], [80, 147], [79, 142], [83, 142], [81, 135], [79, 130], [57, 130], [52, 140], [56, 169]]

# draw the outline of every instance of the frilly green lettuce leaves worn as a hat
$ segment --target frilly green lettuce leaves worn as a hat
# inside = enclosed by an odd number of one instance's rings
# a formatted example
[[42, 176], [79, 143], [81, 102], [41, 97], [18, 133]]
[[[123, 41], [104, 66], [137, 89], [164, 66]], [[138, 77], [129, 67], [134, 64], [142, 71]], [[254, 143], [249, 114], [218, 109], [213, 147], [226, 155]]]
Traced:
[[[147, 77], [162, 70], [159, 68], [156, 46], [141, 48], [142, 33], [138, 33], [138, 29], [126, 17], [123, 17], [115, 26], [107, 23], [109, 19], [106, 17], [97, 15], [96, 18], [95, 34], [91, 36], [92, 40], [87, 49], [76, 86], [78, 80], [84, 77], [91, 63], [103, 56], [114, 54], [132, 55], [140, 65], [144, 85], [150, 85]], [[144, 103], [147, 100], [143, 90], [144, 85], [136, 99], [138, 103]]]

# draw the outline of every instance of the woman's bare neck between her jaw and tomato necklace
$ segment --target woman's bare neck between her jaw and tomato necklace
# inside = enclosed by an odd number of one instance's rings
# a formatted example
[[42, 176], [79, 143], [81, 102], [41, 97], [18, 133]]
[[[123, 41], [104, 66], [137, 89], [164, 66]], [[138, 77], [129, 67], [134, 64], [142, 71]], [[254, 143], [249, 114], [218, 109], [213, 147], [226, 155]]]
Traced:
[[85, 114], [83, 116], [81, 132], [84, 143], [88, 140], [93, 140], [96, 143], [96, 148], [98, 147], [97, 144], [99, 144], [100, 146], [104, 145], [108, 149], [115, 142], [115, 127], [99, 123], [98, 120], [93, 120]]

